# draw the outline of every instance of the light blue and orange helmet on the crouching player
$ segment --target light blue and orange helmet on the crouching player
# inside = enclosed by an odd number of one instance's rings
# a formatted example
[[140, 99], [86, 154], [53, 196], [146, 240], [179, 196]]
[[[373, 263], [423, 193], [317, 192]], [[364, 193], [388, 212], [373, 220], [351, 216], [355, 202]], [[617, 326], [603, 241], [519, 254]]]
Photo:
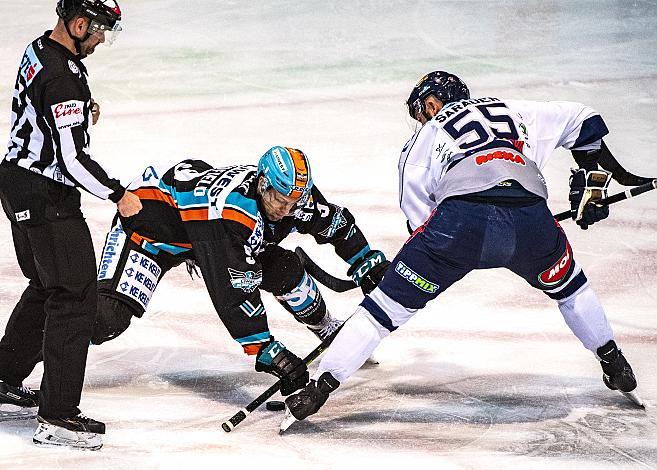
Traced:
[[301, 150], [275, 146], [258, 161], [258, 174], [264, 176], [267, 188], [305, 199], [310, 195], [313, 180], [308, 157]]

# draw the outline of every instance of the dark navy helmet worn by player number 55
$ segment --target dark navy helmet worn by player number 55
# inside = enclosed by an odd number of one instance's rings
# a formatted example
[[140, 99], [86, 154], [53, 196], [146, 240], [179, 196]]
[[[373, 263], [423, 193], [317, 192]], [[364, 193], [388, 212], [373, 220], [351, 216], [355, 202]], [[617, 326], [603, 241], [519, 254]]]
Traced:
[[459, 77], [449, 72], [437, 70], [428, 73], [417, 82], [406, 100], [408, 113], [413, 119], [417, 119], [418, 114], [424, 114], [424, 100], [431, 95], [446, 105], [453, 101], [469, 99], [470, 90]]

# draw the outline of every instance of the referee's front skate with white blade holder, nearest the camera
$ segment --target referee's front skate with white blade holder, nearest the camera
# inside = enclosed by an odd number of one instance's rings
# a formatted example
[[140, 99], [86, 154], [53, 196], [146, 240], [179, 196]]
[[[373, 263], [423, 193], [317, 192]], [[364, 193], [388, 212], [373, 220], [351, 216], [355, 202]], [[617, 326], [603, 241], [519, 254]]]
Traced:
[[45, 418], [38, 416], [39, 427], [32, 442], [39, 446], [71, 447], [98, 450], [103, 446], [101, 434], [105, 424], [80, 413], [70, 418]]

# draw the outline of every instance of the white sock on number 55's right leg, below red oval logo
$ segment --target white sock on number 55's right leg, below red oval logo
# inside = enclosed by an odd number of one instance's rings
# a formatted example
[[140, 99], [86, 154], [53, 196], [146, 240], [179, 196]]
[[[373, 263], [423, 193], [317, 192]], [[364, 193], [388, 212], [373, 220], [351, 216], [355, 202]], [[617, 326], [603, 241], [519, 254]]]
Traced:
[[588, 284], [558, 302], [568, 327], [593, 354], [596, 354], [595, 351], [600, 346], [614, 339], [602, 305]]

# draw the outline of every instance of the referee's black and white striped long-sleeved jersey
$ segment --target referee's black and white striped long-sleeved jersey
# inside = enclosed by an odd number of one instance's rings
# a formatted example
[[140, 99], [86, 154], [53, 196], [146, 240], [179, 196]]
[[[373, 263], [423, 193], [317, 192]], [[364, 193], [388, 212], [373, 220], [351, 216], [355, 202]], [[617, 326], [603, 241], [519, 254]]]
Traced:
[[50, 33], [46, 31], [28, 45], [21, 60], [5, 160], [117, 202], [125, 189], [89, 151], [87, 69], [78, 57], [50, 39]]

